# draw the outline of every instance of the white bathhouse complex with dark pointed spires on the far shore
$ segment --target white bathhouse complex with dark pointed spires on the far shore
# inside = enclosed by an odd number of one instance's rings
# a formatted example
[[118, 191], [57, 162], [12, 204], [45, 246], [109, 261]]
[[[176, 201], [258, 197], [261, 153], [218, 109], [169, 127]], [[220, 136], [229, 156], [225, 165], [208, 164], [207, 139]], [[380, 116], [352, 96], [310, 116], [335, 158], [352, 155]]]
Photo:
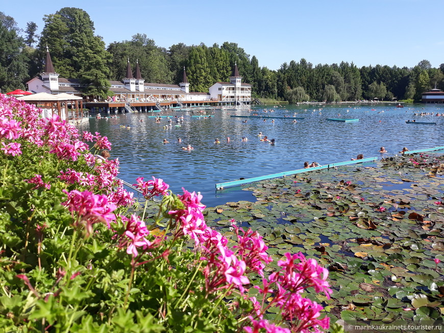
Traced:
[[[230, 82], [217, 82], [209, 88], [209, 92], [190, 92], [185, 67], [182, 82], [179, 85], [147, 83], [143, 80], [139, 61], [136, 60], [135, 75], [131, 69], [130, 59], [127, 59], [125, 78], [122, 81], [110, 81], [109, 90], [114, 93], [114, 99], [124, 99], [133, 102], [167, 103], [168, 106], [183, 104], [219, 103], [219, 104], [250, 104], [251, 85], [242, 83], [237, 64], [235, 63]], [[78, 79], [60, 78], [56, 72], [48, 47], [46, 46], [46, 61], [44, 72], [27, 82], [29, 91], [34, 93], [47, 92], [50, 94], [68, 93], [82, 96], [82, 86]], [[156, 104], [155, 104], [156, 105]]]

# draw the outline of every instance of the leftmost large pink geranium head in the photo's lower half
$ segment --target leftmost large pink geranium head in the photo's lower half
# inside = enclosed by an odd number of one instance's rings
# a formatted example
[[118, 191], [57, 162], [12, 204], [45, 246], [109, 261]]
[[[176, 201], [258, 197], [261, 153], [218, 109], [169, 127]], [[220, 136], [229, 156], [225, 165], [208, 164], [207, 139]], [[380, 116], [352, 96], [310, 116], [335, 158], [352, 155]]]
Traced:
[[86, 236], [92, 233], [92, 225], [97, 222], [104, 222], [110, 227], [110, 222], [115, 220], [112, 213], [117, 207], [114, 203], [109, 202], [106, 195], [96, 195], [89, 191], [79, 192], [72, 190], [64, 191], [68, 196], [63, 206], [74, 214], [77, 213], [77, 219], [74, 226], [85, 226]]

